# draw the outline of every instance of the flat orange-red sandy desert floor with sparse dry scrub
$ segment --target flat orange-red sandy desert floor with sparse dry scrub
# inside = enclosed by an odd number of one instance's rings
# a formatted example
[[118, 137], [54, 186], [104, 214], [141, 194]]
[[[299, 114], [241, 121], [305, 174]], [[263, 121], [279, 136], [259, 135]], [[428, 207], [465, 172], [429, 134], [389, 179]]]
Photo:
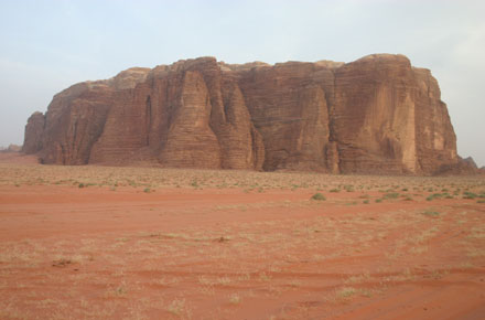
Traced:
[[485, 317], [483, 177], [0, 162], [0, 319]]

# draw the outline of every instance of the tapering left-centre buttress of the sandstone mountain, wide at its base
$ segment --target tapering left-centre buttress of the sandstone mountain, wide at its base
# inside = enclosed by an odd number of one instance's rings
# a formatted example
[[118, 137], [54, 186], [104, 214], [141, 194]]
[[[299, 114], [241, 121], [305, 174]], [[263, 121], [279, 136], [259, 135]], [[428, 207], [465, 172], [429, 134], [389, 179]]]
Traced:
[[214, 58], [158, 66], [117, 92], [89, 163], [256, 169], [265, 148], [237, 81]]

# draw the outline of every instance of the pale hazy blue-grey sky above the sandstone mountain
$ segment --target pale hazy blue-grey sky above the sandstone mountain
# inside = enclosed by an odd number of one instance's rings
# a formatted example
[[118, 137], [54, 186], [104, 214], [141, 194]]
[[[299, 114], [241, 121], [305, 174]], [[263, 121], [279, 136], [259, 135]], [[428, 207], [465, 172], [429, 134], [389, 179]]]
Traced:
[[485, 1], [0, 0], [0, 146], [74, 83], [131, 66], [401, 53], [438, 78], [459, 153], [485, 166]]

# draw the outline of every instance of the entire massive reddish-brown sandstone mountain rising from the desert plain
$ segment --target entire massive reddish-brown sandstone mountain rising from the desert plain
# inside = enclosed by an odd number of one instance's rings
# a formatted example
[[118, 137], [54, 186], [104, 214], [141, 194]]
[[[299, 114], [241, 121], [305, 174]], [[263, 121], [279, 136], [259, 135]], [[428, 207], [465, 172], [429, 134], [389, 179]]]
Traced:
[[435, 174], [461, 163], [440, 95], [403, 55], [200, 57], [61, 92], [29, 118], [23, 152], [56, 164]]

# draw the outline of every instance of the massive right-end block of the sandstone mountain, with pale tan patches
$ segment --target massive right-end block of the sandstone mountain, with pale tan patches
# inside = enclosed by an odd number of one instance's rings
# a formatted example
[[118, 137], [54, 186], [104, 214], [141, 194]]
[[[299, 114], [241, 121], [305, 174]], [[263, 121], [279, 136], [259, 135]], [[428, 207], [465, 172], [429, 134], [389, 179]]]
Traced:
[[336, 71], [333, 139], [344, 172], [431, 173], [456, 163], [436, 81], [402, 55], [369, 55]]

